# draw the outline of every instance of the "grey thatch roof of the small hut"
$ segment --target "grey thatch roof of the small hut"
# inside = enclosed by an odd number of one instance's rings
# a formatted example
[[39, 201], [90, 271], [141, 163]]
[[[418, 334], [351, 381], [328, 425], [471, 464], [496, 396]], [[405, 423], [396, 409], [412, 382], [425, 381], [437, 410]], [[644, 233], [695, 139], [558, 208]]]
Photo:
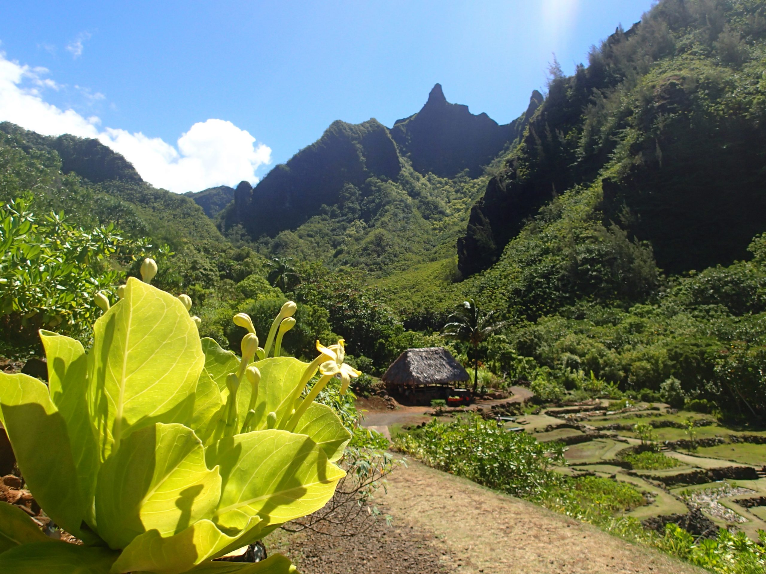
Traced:
[[383, 375], [387, 385], [444, 385], [470, 377], [447, 349], [430, 347], [404, 351]]

